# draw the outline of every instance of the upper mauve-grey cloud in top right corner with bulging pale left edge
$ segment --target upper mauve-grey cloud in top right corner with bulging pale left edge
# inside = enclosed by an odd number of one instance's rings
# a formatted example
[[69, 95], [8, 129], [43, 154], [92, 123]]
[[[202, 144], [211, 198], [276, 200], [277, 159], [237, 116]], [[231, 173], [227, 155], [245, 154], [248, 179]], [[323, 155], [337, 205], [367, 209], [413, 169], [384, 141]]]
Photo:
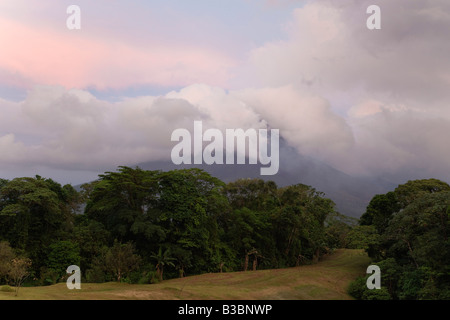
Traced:
[[366, 28], [371, 1], [319, 0], [294, 11], [288, 39], [254, 50], [255, 81], [397, 99], [449, 98], [448, 1], [379, 1], [382, 30]]

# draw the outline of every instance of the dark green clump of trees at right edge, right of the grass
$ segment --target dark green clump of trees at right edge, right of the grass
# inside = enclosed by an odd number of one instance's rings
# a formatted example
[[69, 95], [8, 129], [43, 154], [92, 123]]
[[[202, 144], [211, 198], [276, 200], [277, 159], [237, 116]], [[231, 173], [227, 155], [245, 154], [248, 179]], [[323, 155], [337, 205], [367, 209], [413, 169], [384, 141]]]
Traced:
[[367, 252], [393, 299], [450, 297], [450, 186], [415, 180], [375, 196], [361, 227], [376, 228]]

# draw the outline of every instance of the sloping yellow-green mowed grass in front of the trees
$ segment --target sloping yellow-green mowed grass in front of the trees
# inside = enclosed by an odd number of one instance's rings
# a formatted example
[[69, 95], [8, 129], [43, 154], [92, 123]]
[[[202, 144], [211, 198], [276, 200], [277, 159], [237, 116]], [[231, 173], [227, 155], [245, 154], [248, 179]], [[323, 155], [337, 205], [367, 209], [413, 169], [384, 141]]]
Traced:
[[247, 272], [209, 273], [158, 284], [65, 283], [0, 291], [0, 300], [346, 300], [347, 287], [370, 263], [363, 250], [341, 249], [315, 265]]

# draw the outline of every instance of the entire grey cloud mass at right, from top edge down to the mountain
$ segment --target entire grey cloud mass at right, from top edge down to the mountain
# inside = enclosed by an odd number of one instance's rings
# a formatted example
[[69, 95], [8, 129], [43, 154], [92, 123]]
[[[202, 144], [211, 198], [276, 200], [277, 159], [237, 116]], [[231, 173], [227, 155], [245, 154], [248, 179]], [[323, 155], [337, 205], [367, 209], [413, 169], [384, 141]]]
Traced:
[[[318, 0], [295, 9], [287, 39], [253, 50], [244, 76], [256, 87], [291, 86], [316, 96], [344, 117], [323, 139], [314, 130], [302, 139], [301, 125], [308, 123], [299, 122], [291, 131], [299, 152], [324, 148], [328, 163], [351, 174], [413, 172], [450, 179], [450, 153], [443, 149], [450, 136], [450, 3], [378, 1], [377, 31], [366, 28], [371, 4]], [[269, 111], [285, 113], [286, 125], [304, 112], [279, 108]], [[333, 128], [324, 119], [312, 123]], [[331, 132], [341, 144], [327, 138]]]

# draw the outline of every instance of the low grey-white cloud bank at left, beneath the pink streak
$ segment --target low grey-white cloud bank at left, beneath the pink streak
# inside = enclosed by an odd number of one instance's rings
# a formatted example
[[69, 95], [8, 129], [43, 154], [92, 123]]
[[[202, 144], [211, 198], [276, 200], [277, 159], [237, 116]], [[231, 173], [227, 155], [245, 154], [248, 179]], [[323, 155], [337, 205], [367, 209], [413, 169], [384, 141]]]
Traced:
[[92, 170], [158, 159], [158, 148], [170, 141], [168, 128], [196, 114], [182, 100], [109, 103], [87, 91], [53, 86], [35, 87], [25, 101], [2, 101], [0, 107], [6, 115], [0, 120], [1, 163]]

